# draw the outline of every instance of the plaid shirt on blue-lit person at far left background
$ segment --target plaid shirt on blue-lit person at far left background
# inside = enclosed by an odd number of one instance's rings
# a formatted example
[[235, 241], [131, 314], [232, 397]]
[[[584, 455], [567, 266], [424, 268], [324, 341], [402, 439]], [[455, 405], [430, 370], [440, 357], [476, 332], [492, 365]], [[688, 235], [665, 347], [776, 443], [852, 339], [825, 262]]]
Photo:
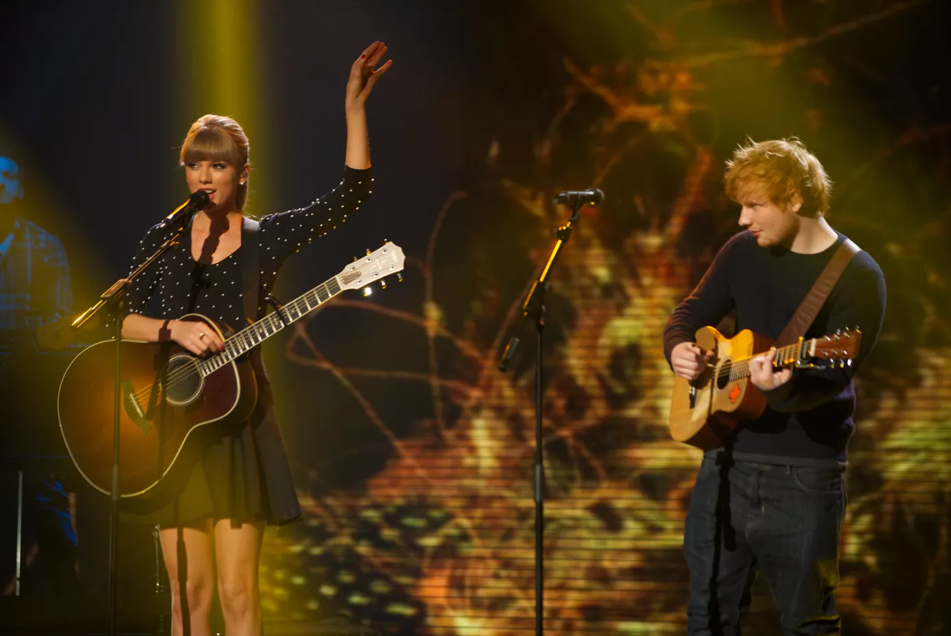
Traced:
[[0, 237], [0, 329], [35, 329], [71, 309], [63, 243], [35, 223], [17, 219]]

